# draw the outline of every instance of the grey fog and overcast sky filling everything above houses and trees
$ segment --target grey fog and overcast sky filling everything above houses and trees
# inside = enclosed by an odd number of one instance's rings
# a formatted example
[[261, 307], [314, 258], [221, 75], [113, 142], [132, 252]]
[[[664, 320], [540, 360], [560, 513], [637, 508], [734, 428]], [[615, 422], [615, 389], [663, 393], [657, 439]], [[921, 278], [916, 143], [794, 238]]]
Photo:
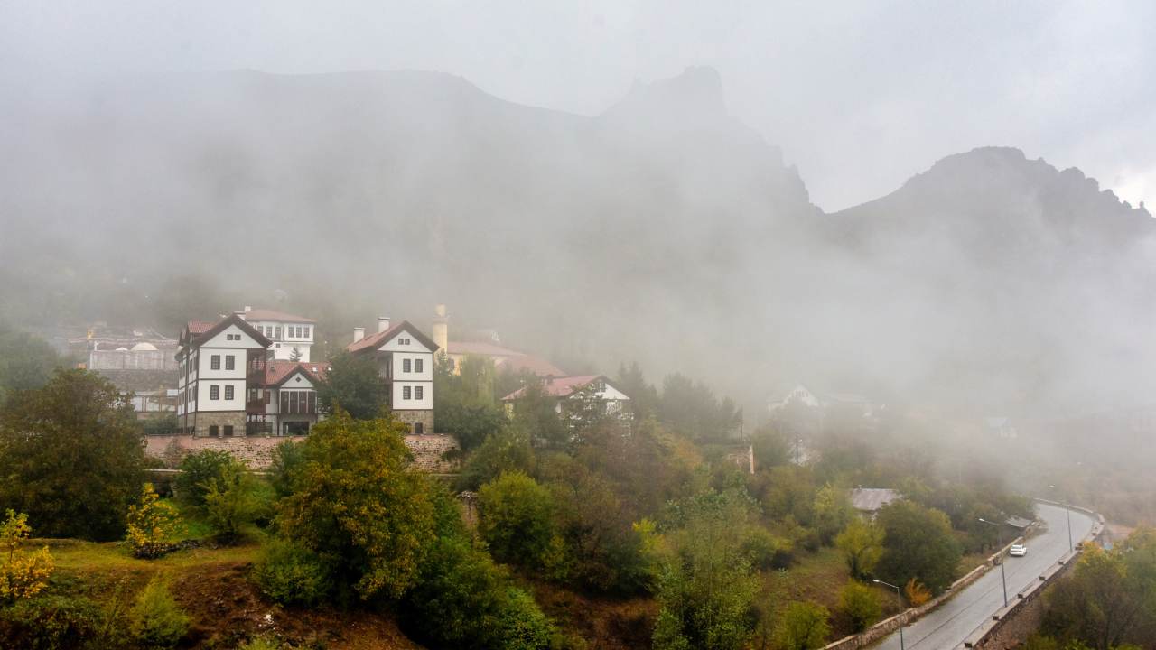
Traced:
[[5, 5], [0, 309], [340, 342], [446, 303], [753, 413], [1147, 407], [1150, 13]]

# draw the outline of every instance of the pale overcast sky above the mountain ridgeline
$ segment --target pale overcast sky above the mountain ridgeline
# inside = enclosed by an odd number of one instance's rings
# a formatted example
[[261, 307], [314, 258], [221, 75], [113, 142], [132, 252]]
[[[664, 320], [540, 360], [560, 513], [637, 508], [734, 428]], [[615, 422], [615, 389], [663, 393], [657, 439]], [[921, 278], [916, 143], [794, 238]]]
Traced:
[[1156, 197], [1156, 3], [0, 0], [0, 93], [45, 79], [428, 69], [596, 115], [711, 66], [833, 212], [979, 146]]

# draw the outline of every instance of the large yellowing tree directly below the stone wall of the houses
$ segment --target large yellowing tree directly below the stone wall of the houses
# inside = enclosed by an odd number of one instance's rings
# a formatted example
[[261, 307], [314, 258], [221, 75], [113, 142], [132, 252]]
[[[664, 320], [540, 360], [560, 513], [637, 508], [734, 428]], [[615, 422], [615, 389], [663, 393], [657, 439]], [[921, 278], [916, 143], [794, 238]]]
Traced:
[[403, 423], [342, 411], [301, 443], [303, 459], [277, 503], [286, 538], [332, 563], [339, 589], [398, 598], [417, 579], [435, 537], [425, 477], [409, 468]]

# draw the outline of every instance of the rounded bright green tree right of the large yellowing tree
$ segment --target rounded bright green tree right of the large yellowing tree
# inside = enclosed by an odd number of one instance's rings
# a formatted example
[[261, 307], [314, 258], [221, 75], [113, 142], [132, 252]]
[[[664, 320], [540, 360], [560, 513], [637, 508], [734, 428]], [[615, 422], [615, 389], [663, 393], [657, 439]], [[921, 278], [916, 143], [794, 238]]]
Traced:
[[499, 561], [535, 566], [554, 535], [550, 493], [521, 472], [509, 472], [477, 494], [477, 531]]

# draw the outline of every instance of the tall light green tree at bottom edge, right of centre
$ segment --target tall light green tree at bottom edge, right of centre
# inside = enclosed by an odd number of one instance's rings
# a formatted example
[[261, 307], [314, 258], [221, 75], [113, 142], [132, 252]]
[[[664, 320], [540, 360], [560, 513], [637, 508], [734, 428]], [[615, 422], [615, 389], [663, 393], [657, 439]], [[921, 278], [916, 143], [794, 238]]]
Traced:
[[754, 629], [749, 612], [758, 582], [742, 549], [749, 500], [707, 492], [668, 515], [676, 549], [659, 578], [653, 643], [661, 650], [738, 650]]

